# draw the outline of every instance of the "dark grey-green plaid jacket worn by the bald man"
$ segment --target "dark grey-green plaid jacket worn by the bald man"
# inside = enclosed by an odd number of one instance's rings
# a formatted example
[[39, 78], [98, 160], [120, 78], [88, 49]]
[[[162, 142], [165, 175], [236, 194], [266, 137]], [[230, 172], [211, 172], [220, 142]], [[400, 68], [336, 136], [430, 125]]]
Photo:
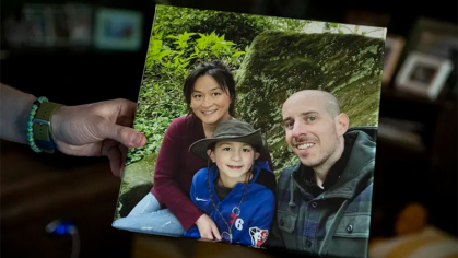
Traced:
[[[277, 189], [273, 234], [289, 250], [333, 257], [367, 257], [376, 128], [349, 129], [354, 144], [340, 179], [313, 197], [293, 178], [300, 163], [285, 168]], [[275, 238], [273, 236], [273, 238]], [[275, 246], [271, 241], [272, 247]]]

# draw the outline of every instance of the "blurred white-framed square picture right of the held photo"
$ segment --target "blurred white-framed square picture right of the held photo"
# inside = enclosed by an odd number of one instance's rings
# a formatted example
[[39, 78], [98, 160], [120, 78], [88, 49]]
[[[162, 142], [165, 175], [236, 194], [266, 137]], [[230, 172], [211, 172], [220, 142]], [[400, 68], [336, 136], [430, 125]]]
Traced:
[[434, 101], [451, 69], [449, 59], [412, 51], [396, 78], [396, 87]]

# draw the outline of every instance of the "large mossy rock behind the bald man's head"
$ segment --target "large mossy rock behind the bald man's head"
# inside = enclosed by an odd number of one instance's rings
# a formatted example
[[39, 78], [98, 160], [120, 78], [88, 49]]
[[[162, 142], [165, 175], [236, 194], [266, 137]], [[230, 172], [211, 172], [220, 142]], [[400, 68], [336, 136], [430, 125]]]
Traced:
[[281, 106], [293, 93], [331, 92], [350, 117], [350, 127], [377, 126], [384, 39], [349, 34], [267, 31], [251, 43], [237, 81], [236, 115], [261, 128], [275, 173], [291, 165], [281, 127]]

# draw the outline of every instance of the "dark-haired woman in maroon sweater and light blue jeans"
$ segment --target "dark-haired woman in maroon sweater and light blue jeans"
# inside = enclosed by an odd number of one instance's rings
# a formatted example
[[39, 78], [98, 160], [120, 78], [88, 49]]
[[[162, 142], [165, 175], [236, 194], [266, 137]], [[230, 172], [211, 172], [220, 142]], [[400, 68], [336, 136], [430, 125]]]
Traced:
[[[126, 216], [114, 221], [117, 228], [168, 236], [183, 236], [196, 225], [201, 238], [221, 241], [210, 216], [190, 199], [193, 175], [207, 161], [189, 146], [210, 138], [221, 121], [234, 119], [235, 81], [221, 61], [199, 64], [186, 79], [183, 93], [188, 115], [174, 119], [167, 130], [154, 168], [154, 186]], [[272, 162], [268, 153], [261, 155]]]

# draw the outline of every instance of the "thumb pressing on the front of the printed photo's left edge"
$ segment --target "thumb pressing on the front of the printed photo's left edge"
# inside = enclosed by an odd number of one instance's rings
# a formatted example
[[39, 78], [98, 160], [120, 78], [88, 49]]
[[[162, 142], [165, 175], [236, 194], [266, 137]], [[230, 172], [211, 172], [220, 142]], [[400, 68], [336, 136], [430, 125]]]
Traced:
[[146, 143], [146, 137], [136, 129], [120, 125], [105, 124], [105, 133], [103, 136], [118, 141], [127, 148], [139, 148]]

